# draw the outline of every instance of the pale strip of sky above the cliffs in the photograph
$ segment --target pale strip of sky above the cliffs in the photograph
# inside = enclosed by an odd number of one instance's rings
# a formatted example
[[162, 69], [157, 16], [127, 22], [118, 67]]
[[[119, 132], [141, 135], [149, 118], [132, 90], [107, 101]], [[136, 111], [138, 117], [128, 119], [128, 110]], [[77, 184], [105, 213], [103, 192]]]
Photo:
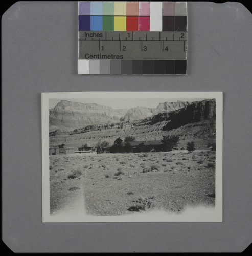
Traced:
[[49, 100], [49, 108], [52, 109], [54, 108], [57, 103], [60, 100], [68, 100], [68, 101], [74, 101], [74, 102], [81, 102], [81, 103], [97, 103], [99, 105], [103, 106], [110, 106], [113, 109], [129, 109], [129, 108], [135, 108], [136, 106], [146, 106], [147, 108], [156, 108], [159, 103], [163, 102], [175, 102], [178, 100], [181, 101], [200, 101], [204, 100], [207, 98], [190, 98], [190, 99], [182, 99], [182, 98], [177, 98], [177, 99], [168, 99], [168, 98], [160, 98], [160, 99], [50, 99]]

